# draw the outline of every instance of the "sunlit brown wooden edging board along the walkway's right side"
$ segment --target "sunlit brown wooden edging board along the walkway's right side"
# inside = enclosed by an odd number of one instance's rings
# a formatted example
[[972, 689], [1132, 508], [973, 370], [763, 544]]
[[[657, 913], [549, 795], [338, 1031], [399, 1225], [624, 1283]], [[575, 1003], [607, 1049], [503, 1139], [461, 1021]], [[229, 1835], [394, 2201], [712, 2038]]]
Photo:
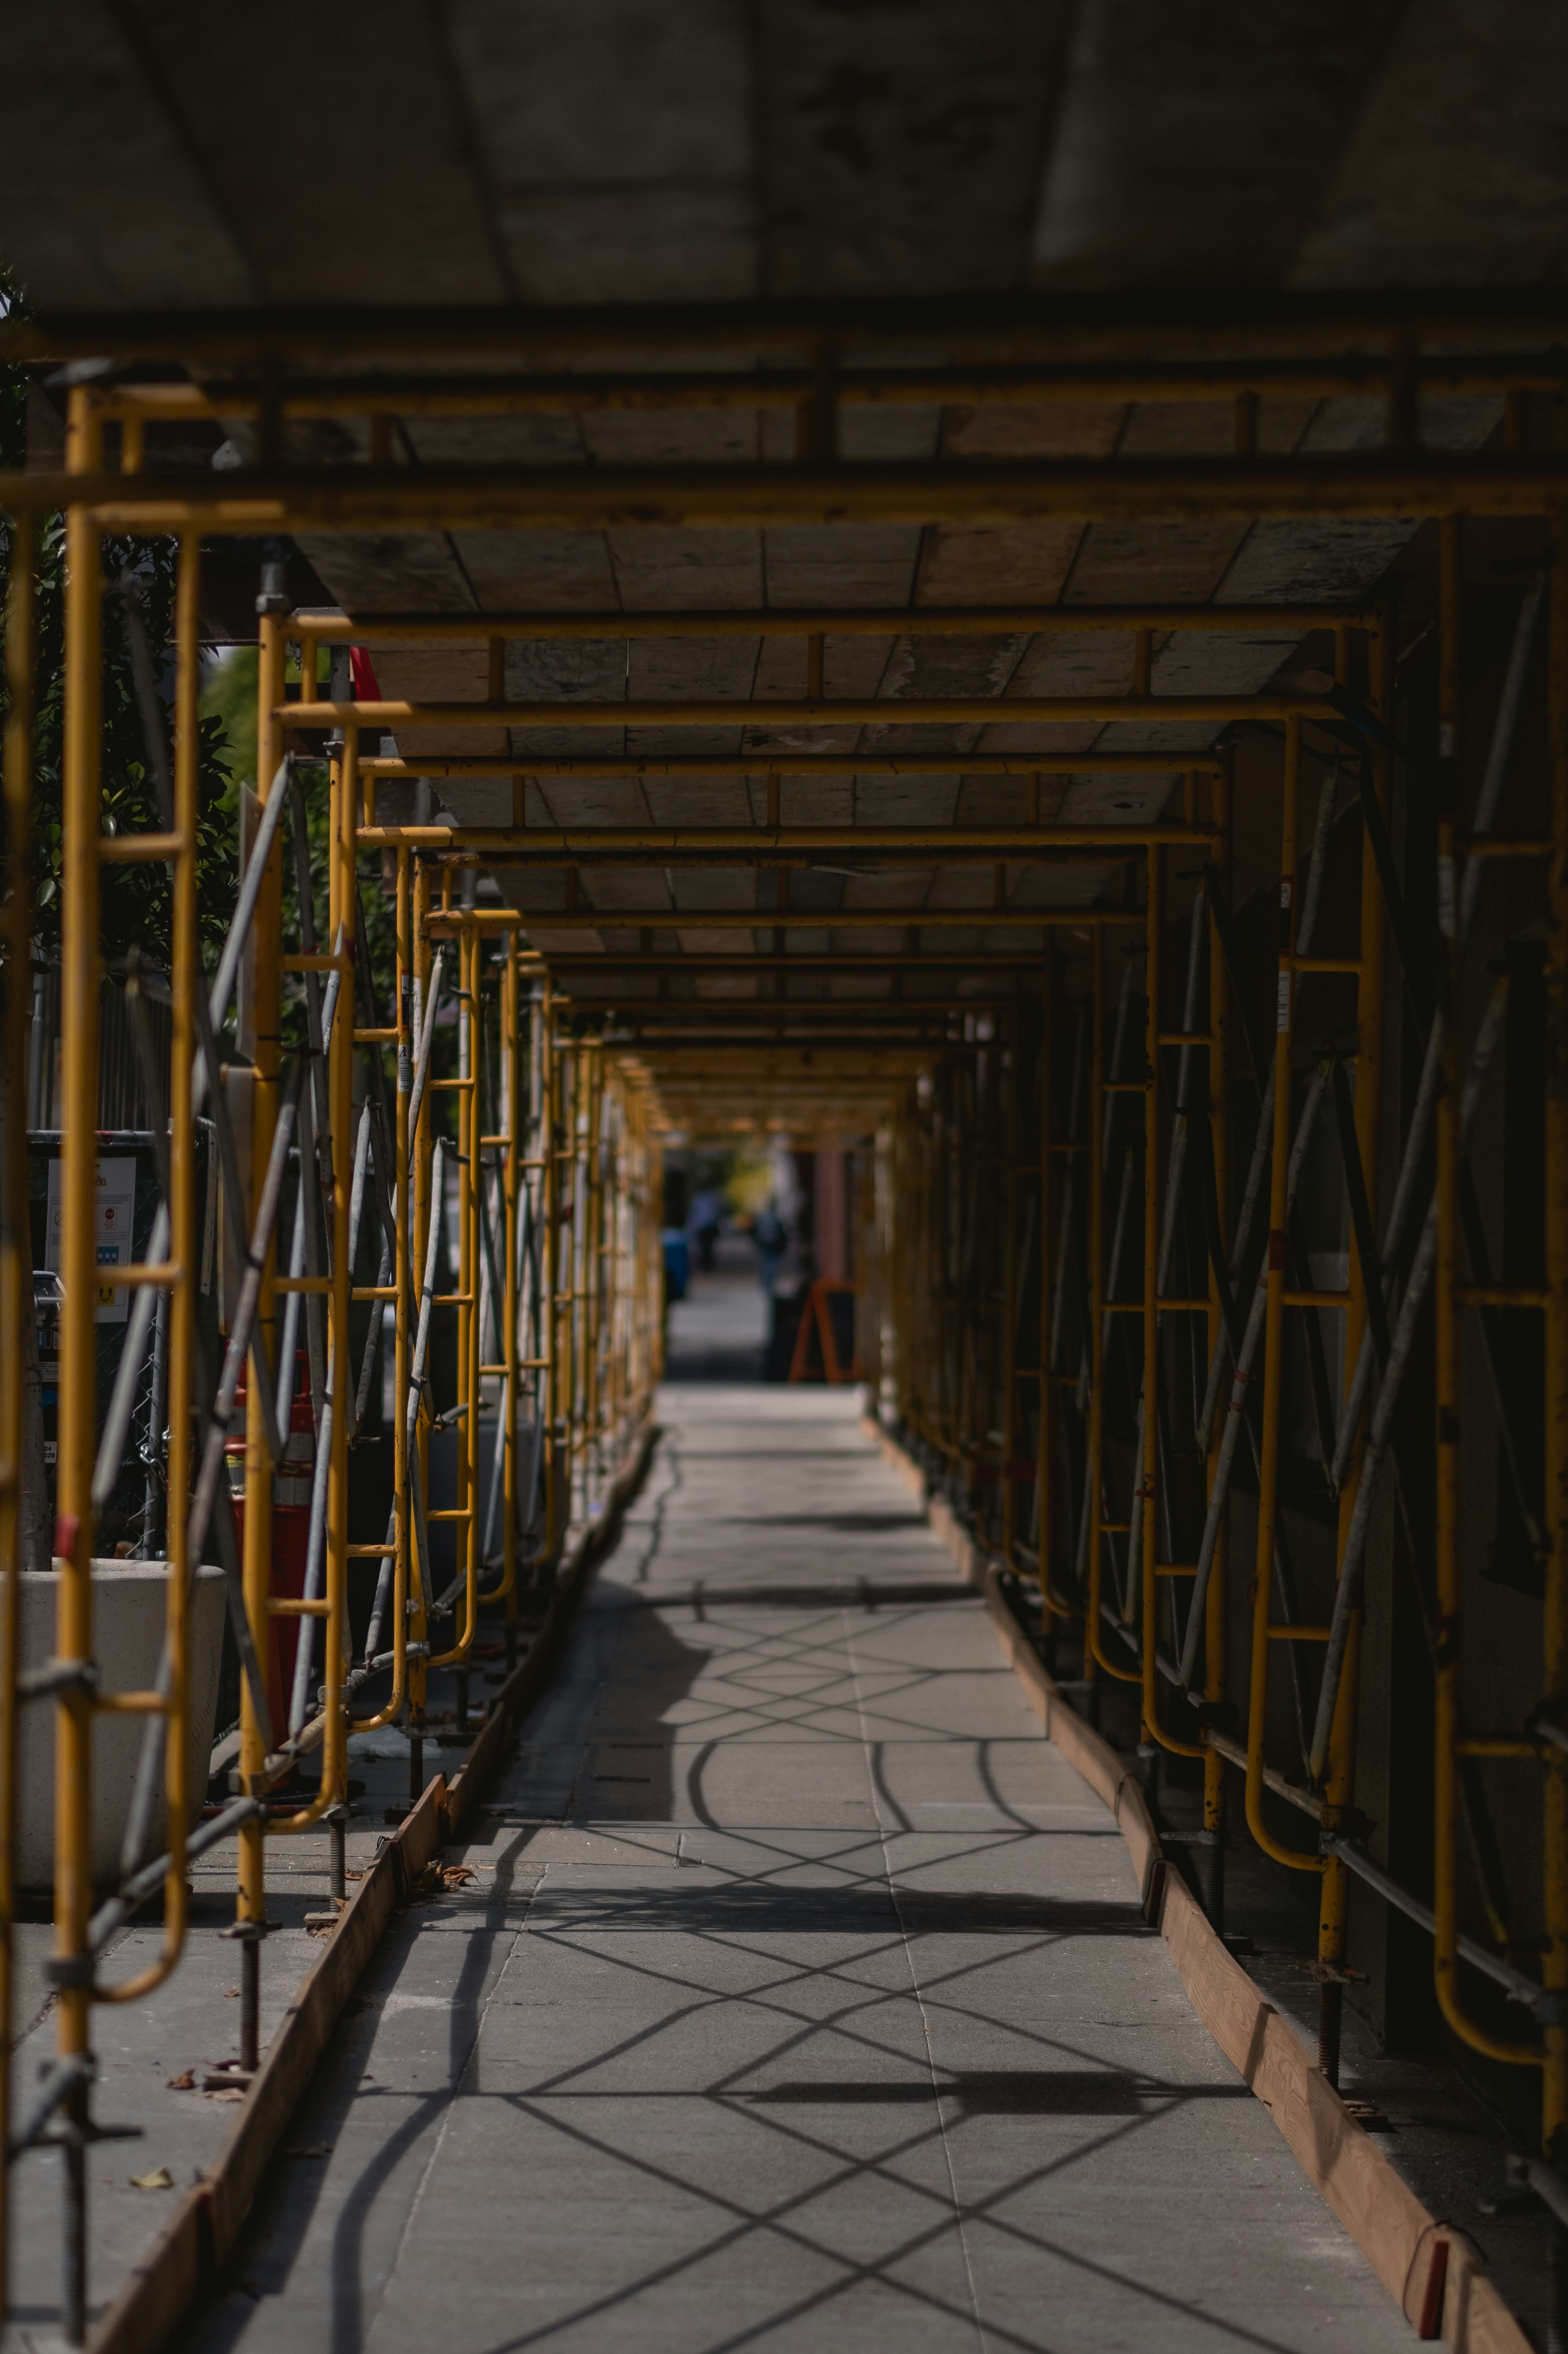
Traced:
[[[984, 1594], [996, 1638], [1017, 1674], [1045, 1740], [1116, 1815], [1144, 1900], [1144, 1914], [1170, 1947], [1182, 1984], [1210, 2036], [1248, 2081], [1283, 2133], [1297, 2166], [1340, 2217], [1413, 2328], [1439, 2302], [1443, 2345], [1462, 2354], [1530, 2354], [1530, 2340], [1488, 2281], [1464, 2232], [1429, 2215], [1394, 2163], [1363, 2133], [1328, 2079], [1311, 2064], [1295, 2029], [1264, 2001], [1215, 1935], [1187, 1883], [1165, 1871], [1158, 1834], [1137, 1777], [1071, 1707], [1045, 1674], [1008, 1608], [996, 1563], [956, 1514], [925, 1497], [925, 1474], [871, 1415], [862, 1415], [892, 1471], [925, 1502], [932, 1532], [958, 1570]], [[1443, 2269], [1446, 2267], [1446, 2276]]]

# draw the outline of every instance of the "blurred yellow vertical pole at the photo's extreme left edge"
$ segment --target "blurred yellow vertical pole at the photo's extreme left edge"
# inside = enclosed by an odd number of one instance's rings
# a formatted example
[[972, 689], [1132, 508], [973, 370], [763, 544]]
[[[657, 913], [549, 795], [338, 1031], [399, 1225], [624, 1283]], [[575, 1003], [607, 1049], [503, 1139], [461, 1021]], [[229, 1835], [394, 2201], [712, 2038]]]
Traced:
[[[12, 2123], [16, 1902], [16, 1669], [21, 1648], [21, 1351], [33, 1314], [28, 1231], [28, 982], [33, 965], [33, 565], [38, 527], [12, 518], [5, 596], [5, 1165], [0, 1165], [0, 2149]], [[9, 2168], [0, 2185], [0, 2314], [9, 2283]]]

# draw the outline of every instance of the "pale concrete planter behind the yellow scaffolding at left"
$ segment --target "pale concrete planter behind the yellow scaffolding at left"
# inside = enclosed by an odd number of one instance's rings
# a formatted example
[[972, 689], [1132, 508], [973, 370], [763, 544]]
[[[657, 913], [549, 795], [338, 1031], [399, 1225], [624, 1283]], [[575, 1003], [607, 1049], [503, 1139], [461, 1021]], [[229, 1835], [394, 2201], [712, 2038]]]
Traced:
[[[158, 1678], [162, 1624], [167, 1610], [167, 1561], [94, 1561], [92, 1629], [94, 1655], [106, 1693], [146, 1693]], [[31, 1572], [21, 1580], [21, 1667], [42, 1667], [54, 1657], [54, 1605], [59, 1572]], [[200, 1570], [191, 1596], [191, 1733], [188, 1775], [191, 1806], [207, 1796], [207, 1761], [217, 1718], [219, 1667], [224, 1660], [224, 1572]], [[49, 1888], [54, 1881], [54, 1707], [35, 1700], [19, 1725], [16, 1794], [16, 1881], [21, 1888]], [[120, 1838], [129, 1810], [137, 1756], [141, 1754], [139, 1716], [99, 1716], [92, 1728], [92, 1878], [113, 1888], [120, 1878]], [[165, 1838], [165, 1808], [158, 1808], [153, 1836]], [[158, 1855], [158, 1848], [151, 1848]]]

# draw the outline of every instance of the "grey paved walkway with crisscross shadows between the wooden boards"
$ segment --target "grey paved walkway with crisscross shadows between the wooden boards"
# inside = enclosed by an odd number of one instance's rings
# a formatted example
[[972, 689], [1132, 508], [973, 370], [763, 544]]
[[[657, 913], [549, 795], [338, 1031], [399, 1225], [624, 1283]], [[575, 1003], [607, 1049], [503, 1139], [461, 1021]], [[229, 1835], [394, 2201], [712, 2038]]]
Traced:
[[1408, 2345], [855, 1401], [662, 1419], [186, 2354]]

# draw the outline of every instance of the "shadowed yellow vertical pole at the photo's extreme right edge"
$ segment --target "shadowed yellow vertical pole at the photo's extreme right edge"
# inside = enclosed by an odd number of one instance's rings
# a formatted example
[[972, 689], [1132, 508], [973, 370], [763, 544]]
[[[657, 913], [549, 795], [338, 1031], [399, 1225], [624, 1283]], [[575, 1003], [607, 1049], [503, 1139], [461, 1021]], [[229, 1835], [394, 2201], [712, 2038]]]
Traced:
[[[1552, 511], [1547, 878], [1547, 1594], [1542, 1690], [1568, 1693], [1568, 508]], [[1542, 1977], [1559, 2017], [1544, 2029], [1542, 2147], [1568, 2159], [1568, 1756], [1544, 1761]]]

